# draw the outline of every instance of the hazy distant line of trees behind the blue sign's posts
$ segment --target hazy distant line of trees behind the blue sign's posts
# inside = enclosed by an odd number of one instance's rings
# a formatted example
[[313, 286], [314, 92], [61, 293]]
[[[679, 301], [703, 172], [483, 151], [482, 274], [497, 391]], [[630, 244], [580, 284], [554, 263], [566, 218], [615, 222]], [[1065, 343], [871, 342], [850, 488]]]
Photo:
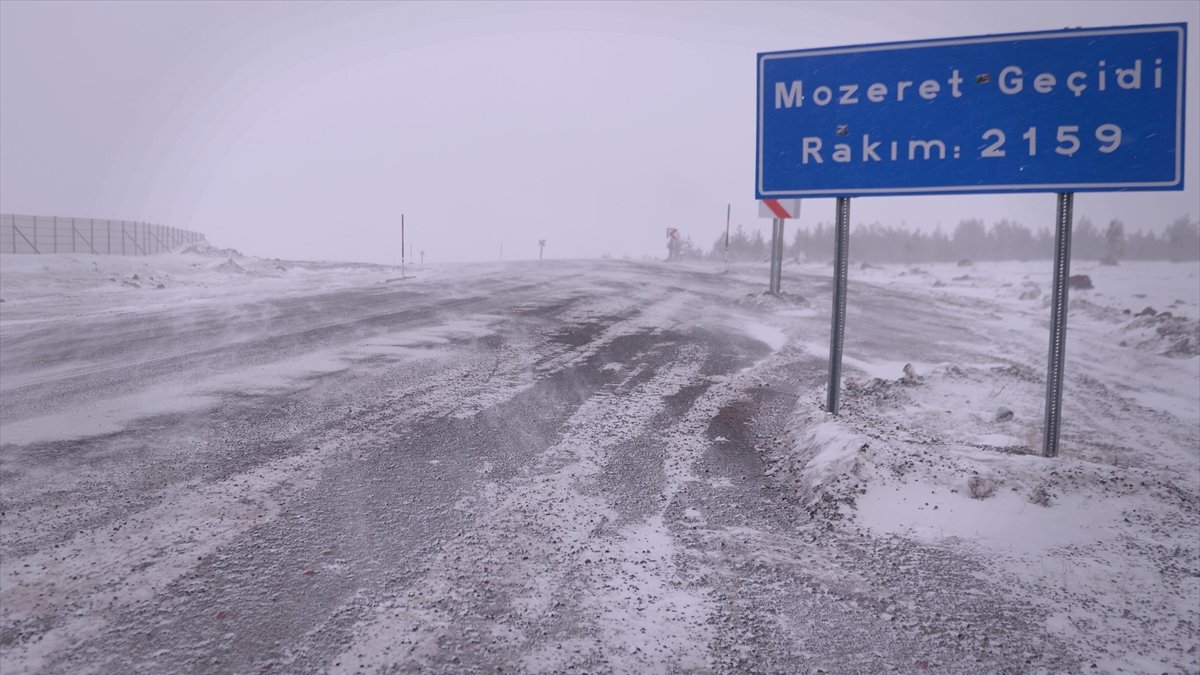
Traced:
[[[800, 261], [833, 259], [834, 228], [829, 223], [816, 227], [790, 227], [791, 241], [785, 256]], [[683, 259], [722, 259], [725, 233], [718, 237], [709, 251], [703, 251], [684, 238], [679, 256]], [[770, 240], [762, 231], [746, 232], [738, 226], [730, 234], [731, 261], [766, 261]], [[1019, 222], [1001, 220], [991, 227], [982, 220], [964, 220], [947, 234], [941, 227], [932, 232], [913, 232], [878, 223], [858, 225], [850, 233], [850, 257], [872, 263], [932, 263], [971, 261], [1030, 261], [1054, 257], [1054, 234], [1049, 228], [1037, 232]], [[1070, 257], [1085, 261], [1200, 261], [1200, 222], [1188, 216], [1176, 219], [1162, 234], [1154, 232], [1127, 233], [1120, 220], [1097, 227], [1086, 217], [1075, 222]]]

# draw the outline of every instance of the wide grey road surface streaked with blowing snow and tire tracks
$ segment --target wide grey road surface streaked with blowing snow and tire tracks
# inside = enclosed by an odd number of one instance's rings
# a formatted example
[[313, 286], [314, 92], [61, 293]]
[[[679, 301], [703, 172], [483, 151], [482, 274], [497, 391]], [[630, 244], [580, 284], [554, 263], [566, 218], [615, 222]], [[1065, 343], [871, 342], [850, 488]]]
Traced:
[[[976, 562], [814, 519], [764, 454], [828, 281], [719, 271], [7, 315], [4, 673], [1074, 669]], [[857, 353], [976, 335], [854, 293]]]

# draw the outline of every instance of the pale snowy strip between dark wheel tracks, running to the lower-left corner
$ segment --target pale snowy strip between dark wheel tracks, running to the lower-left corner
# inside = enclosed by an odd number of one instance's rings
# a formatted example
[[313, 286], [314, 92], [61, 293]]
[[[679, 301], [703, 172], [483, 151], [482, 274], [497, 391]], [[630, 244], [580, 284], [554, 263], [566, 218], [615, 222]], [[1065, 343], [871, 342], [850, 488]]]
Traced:
[[[312, 489], [326, 466], [353, 449], [349, 440], [338, 438], [346, 424], [389, 429], [450, 413], [464, 387], [478, 388], [481, 374], [473, 363], [452, 364], [452, 353], [440, 358], [448, 363], [436, 377], [406, 382], [358, 419], [340, 418], [318, 431], [326, 440], [311, 449], [222, 480], [175, 483], [146, 508], [82, 530], [53, 548], [6, 558], [0, 627], [14, 638], [0, 655], [0, 671], [42, 670], [56, 652], [100, 635], [120, 613], [158, 597], [202, 560], [278, 516], [284, 503]], [[8, 530], [10, 522], [5, 525]], [[12, 534], [20, 532], [6, 533], [6, 545], [13, 544]], [[49, 629], [38, 631], [36, 640], [16, 637], [47, 622]]]

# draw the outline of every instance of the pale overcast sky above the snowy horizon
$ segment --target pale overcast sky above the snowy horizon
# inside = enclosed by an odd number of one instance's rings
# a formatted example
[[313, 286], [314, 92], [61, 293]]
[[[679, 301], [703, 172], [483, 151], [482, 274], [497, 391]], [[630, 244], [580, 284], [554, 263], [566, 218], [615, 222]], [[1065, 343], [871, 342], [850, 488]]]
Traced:
[[[1200, 213], [1200, 4], [0, 2], [0, 210], [190, 227], [284, 258], [706, 249], [754, 201], [755, 54], [1188, 22], [1183, 192], [1084, 193], [1130, 229]], [[854, 222], [1054, 221], [1052, 195], [876, 197]], [[833, 220], [832, 199], [800, 221]], [[766, 227], [764, 227], [766, 226]]]

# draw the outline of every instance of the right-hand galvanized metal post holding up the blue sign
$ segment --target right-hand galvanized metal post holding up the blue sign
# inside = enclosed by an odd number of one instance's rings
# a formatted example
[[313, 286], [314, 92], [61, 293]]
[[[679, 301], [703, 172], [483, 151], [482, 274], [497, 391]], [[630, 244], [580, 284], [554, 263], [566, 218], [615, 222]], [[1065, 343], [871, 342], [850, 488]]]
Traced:
[[1067, 287], [1070, 281], [1070, 227], [1075, 195], [1058, 193], [1055, 225], [1054, 289], [1050, 298], [1050, 363], [1046, 368], [1046, 420], [1042, 455], [1058, 456], [1058, 426], [1062, 422], [1062, 380], [1067, 358]]

